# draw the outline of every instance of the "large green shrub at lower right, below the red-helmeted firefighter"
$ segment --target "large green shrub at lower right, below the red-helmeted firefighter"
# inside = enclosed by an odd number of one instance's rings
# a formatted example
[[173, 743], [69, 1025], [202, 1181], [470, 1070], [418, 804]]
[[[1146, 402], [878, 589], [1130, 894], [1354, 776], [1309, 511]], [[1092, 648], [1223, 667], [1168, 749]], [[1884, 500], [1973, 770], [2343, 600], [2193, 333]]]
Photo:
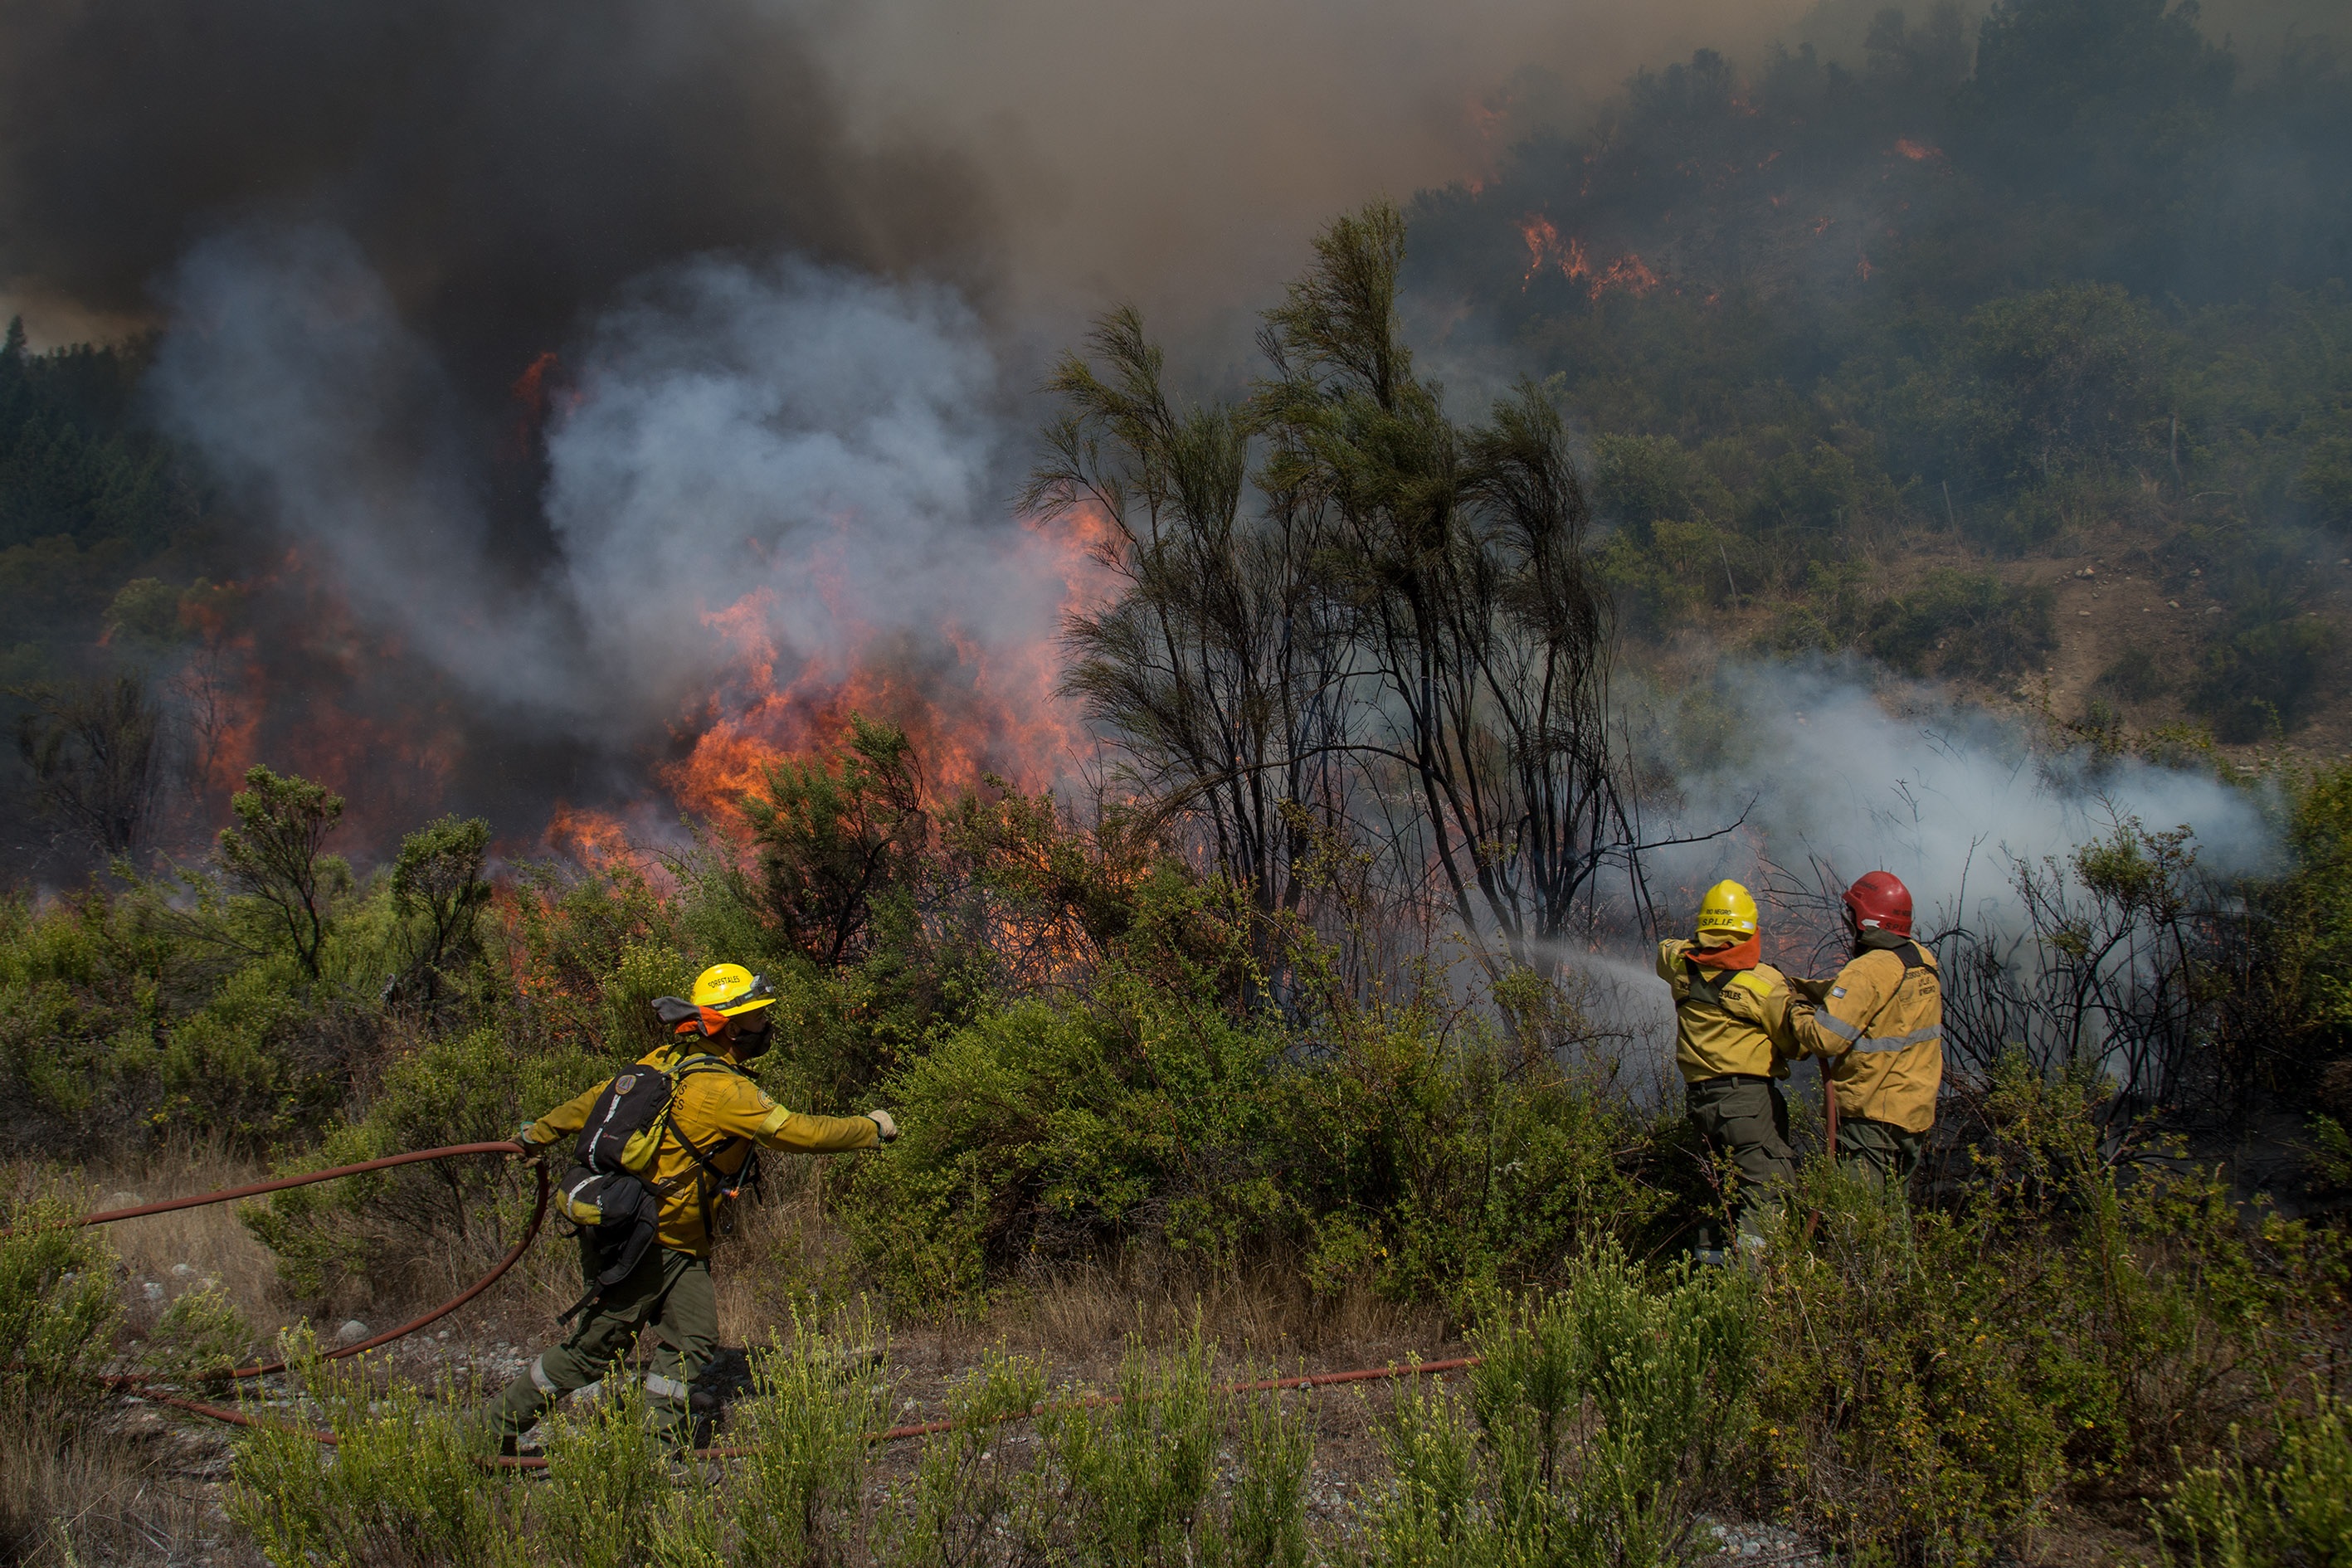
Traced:
[[2070, 1488], [2150, 1483], [2216, 1441], [2340, 1312], [2336, 1241], [2249, 1229], [2164, 1150], [2119, 1173], [2103, 1103], [2004, 1058], [1952, 1208], [1804, 1173], [1759, 1309], [1757, 1458], [1830, 1544], [1990, 1561]]

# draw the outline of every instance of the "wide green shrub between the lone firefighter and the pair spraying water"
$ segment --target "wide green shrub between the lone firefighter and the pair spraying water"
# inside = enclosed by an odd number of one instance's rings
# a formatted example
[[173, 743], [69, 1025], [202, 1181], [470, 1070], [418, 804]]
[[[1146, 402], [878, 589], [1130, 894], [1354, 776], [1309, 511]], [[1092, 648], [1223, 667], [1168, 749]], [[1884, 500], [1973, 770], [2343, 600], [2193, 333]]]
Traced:
[[1211, 1262], [1294, 1244], [1319, 1288], [1430, 1298], [1550, 1276], [1665, 1211], [1637, 1166], [1653, 1128], [1550, 1037], [1510, 1044], [1435, 992], [1317, 1044], [1235, 1013], [1110, 966], [946, 1034], [887, 1086], [906, 1135], [849, 1175], [861, 1258], [922, 1312], [1134, 1239]]

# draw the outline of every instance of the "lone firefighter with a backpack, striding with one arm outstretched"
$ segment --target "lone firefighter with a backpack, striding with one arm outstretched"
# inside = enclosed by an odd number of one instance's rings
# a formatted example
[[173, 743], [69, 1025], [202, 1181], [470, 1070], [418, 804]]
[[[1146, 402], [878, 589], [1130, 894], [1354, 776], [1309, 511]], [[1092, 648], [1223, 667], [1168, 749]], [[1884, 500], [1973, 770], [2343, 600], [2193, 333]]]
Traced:
[[[529, 1432], [557, 1399], [604, 1378], [644, 1326], [661, 1338], [644, 1378], [647, 1406], [673, 1448], [691, 1448], [694, 1378], [710, 1363], [720, 1338], [717, 1295], [710, 1288], [710, 1225], [722, 1197], [734, 1194], [755, 1150], [840, 1154], [870, 1150], [898, 1135], [889, 1112], [863, 1117], [804, 1117], [783, 1110], [741, 1067], [767, 1051], [776, 992], [741, 964], [715, 964], [694, 980], [703, 1018], [724, 1020], [715, 1034], [682, 1046], [659, 1046], [642, 1065], [675, 1072], [668, 1128], [652, 1168], [661, 1199], [654, 1246], [621, 1284], [583, 1309], [572, 1335], [543, 1349], [499, 1396], [494, 1422], [501, 1453]], [[682, 1023], [680, 1034], [708, 1025]], [[579, 1133], [604, 1084], [527, 1121], [520, 1143], [534, 1150]], [[691, 1138], [703, 1159], [682, 1143]], [[534, 1154], [543, 1157], [543, 1154]], [[720, 1178], [727, 1178], [724, 1182]], [[595, 1232], [581, 1232], [588, 1281], [602, 1267]]]

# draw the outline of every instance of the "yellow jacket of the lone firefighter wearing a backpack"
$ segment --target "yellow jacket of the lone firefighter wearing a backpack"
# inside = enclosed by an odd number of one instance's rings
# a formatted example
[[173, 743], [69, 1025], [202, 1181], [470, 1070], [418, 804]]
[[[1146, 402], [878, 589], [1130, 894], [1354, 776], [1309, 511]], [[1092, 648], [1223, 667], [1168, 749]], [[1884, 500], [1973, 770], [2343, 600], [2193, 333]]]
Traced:
[[[717, 1063], [713, 1056], [673, 1056], [668, 1048], [649, 1053], [644, 1067], [682, 1067], [687, 1063]], [[612, 1079], [604, 1079], [609, 1084]], [[555, 1143], [567, 1133], [588, 1126], [588, 1112], [604, 1093], [604, 1084], [581, 1091], [546, 1117], [522, 1128], [522, 1143]], [[720, 1190], [710, 1180], [675, 1133], [684, 1133], [701, 1147], [703, 1157], [727, 1175], [739, 1175], [753, 1147], [800, 1150], [804, 1154], [842, 1154], [847, 1150], [870, 1150], [882, 1143], [873, 1117], [807, 1117], [776, 1105], [764, 1088], [753, 1084], [729, 1065], [706, 1065], [677, 1077], [670, 1091], [670, 1133], [654, 1157], [649, 1182], [661, 1197], [661, 1246], [703, 1258], [710, 1253], [710, 1215], [717, 1213]]]

